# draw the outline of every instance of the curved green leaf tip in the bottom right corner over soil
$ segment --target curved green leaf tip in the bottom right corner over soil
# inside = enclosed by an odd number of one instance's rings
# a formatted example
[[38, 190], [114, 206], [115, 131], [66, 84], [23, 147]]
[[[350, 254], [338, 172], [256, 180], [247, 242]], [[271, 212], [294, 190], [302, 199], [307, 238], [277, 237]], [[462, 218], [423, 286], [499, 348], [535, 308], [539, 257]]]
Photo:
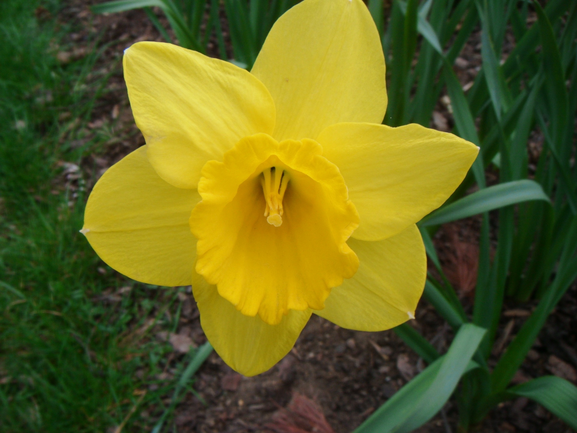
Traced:
[[571, 428], [577, 429], [577, 387], [557, 376], [543, 376], [507, 390], [545, 406]]

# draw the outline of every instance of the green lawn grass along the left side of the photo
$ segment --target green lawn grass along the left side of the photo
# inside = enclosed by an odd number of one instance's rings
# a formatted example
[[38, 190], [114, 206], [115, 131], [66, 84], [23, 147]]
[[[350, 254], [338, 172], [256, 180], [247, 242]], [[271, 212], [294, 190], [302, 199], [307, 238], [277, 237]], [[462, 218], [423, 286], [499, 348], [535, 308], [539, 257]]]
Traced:
[[[41, 23], [38, 6], [50, 12]], [[107, 431], [139, 400], [139, 408], [162, 413], [161, 397], [174, 385], [155, 379], [172, 349], [148, 337], [159, 326], [175, 329], [178, 319], [164, 311], [178, 308], [178, 289], [118, 275], [78, 233], [88, 175], [63, 162], [80, 166], [110, 139], [84, 128], [107, 77], [88, 80], [98, 52], [58, 62], [73, 31], [53, 18], [60, 6], [0, 2], [0, 430], [7, 433]], [[79, 139], [85, 144], [71, 145]], [[67, 167], [80, 178], [67, 180]], [[121, 300], [103, 300], [126, 286]], [[152, 424], [138, 412], [128, 428]]]

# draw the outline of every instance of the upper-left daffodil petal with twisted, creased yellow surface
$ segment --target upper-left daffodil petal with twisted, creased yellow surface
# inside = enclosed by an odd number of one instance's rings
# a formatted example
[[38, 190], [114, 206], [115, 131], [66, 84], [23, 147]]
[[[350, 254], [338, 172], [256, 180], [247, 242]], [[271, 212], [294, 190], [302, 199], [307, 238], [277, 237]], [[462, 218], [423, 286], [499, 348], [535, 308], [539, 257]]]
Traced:
[[172, 44], [125, 51], [124, 77], [148, 158], [164, 180], [196, 188], [200, 170], [247, 135], [272, 133], [275, 105], [260, 81], [222, 60]]

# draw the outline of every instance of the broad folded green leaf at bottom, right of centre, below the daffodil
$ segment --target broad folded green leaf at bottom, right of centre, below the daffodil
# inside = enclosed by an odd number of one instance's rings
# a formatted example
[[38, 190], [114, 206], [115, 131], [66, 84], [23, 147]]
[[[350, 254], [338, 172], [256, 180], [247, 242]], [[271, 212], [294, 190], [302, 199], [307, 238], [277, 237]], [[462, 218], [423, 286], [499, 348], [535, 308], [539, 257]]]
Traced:
[[485, 330], [464, 324], [447, 354], [425, 368], [377, 409], [354, 433], [409, 433], [430, 420], [447, 402], [471, 361]]

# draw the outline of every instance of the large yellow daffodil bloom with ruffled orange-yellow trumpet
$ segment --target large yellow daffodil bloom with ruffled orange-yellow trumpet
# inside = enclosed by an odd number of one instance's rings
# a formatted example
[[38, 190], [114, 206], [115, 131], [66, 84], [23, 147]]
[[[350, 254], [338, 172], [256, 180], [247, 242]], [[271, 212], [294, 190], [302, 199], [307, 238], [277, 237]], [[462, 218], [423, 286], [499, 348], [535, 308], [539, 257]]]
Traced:
[[249, 73], [165, 43], [126, 50], [147, 145], [95, 185], [82, 232], [138, 281], [193, 286], [224, 361], [263, 372], [314, 312], [389, 329], [413, 317], [426, 258], [415, 223], [477, 156], [459, 137], [381, 125], [379, 35], [361, 0], [304, 0]]

